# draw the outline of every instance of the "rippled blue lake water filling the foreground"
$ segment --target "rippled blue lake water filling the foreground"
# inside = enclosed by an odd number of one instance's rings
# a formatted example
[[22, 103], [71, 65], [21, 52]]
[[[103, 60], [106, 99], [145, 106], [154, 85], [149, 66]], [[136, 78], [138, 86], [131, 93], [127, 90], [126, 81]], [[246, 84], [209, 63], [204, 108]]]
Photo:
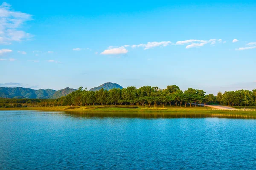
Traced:
[[0, 169], [256, 169], [256, 119], [166, 117], [0, 111]]

